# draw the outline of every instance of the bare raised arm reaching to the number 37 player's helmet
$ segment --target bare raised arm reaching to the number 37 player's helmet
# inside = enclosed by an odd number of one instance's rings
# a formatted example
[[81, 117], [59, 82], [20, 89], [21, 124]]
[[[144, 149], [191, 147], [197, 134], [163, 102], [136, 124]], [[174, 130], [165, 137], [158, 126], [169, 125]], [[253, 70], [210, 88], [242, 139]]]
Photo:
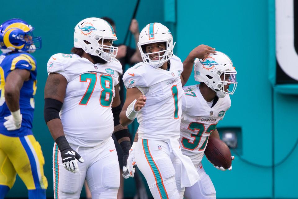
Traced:
[[209, 56], [210, 53], [216, 53], [215, 49], [201, 44], [194, 48], [187, 56], [187, 58], [183, 62], [183, 72], [181, 73], [181, 83], [182, 86], [186, 84], [189, 76], [192, 74], [192, 66], [196, 58], [204, 59]]

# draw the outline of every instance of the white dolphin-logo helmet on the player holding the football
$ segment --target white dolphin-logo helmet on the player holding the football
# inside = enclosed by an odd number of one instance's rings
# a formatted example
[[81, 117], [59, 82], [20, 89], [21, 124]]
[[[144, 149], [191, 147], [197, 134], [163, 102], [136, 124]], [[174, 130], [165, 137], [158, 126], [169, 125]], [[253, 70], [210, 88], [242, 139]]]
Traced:
[[[194, 67], [194, 77], [196, 81], [204, 82], [209, 88], [214, 90], [219, 98], [223, 98], [226, 94], [233, 95], [236, 87], [237, 71], [233, 67], [232, 60], [224, 53], [217, 51], [210, 54], [205, 59], [196, 59]], [[220, 76], [223, 75], [223, 80]], [[225, 77], [229, 76], [228, 81]], [[232, 89], [224, 90], [224, 86], [233, 85]]]

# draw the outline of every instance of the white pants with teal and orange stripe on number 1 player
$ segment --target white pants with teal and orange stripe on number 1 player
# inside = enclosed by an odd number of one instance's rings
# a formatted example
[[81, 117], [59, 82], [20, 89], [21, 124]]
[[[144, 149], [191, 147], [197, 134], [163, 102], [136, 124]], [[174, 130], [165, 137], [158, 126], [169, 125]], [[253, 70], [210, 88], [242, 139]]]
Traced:
[[155, 199], [183, 199], [181, 161], [165, 141], [138, 139], [135, 160]]

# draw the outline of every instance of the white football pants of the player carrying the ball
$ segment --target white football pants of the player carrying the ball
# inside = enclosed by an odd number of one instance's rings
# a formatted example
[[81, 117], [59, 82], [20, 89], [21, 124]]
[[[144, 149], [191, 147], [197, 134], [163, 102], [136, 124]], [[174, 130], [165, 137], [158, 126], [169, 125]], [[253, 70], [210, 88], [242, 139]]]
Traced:
[[216, 199], [214, 185], [202, 164], [197, 166], [196, 169], [201, 180], [192, 185], [192, 187], [185, 187], [185, 199]]

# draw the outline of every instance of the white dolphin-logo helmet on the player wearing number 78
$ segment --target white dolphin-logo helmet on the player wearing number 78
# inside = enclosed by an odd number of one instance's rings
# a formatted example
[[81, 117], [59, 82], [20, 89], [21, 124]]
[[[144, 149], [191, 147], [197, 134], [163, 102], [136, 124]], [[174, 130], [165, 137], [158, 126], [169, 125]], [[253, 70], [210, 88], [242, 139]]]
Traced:
[[[102, 39], [101, 44], [99, 44], [100, 39]], [[104, 45], [104, 39], [111, 39], [111, 46]], [[103, 19], [91, 17], [80, 21], [75, 26], [74, 46], [110, 63], [117, 55], [118, 48], [112, 46], [113, 41], [116, 40], [112, 26]], [[107, 50], [108, 52], [105, 52]]]

